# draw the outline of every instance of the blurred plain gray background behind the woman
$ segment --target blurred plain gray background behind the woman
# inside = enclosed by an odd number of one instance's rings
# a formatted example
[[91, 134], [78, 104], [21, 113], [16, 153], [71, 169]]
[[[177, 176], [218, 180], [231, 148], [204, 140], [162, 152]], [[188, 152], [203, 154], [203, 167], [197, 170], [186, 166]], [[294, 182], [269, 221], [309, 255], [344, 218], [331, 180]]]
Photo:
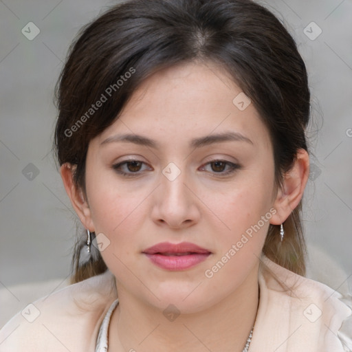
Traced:
[[[76, 32], [113, 3], [0, 1], [0, 289], [16, 307], [25, 303], [14, 285], [56, 278], [56, 289], [69, 275], [76, 216], [51, 152], [53, 90]], [[309, 275], [338, 289], [352, 274], [352, 1], [276, 0], [268, 7], [296, 39], [309, 70], [315, 155], [303, 217]], [[32, 41], [21, 32], [30, 21], [40, 29]], [[312, 21], [322, 29], [314, 41], [304, 33]]]

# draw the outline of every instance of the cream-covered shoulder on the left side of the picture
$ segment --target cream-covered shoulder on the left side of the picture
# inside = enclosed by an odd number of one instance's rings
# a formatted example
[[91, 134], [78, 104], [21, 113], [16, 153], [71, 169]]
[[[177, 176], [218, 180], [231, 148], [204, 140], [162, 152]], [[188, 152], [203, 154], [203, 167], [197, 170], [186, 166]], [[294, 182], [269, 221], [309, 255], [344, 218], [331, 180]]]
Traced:
[[0, 330], [0, 351], [87, 351], [116, 298], [109, 271], [40, 298]]

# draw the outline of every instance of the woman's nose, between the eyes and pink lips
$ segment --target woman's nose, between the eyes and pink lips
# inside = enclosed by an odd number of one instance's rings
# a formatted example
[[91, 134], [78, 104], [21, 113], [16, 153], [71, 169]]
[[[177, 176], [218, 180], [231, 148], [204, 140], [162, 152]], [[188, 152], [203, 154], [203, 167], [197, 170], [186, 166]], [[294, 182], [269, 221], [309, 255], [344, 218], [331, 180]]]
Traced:
[[[165, 174], [167, 175], [167, 174]], [[169, 228], [188, 228], [200, 219], [195, 186], [181, 172], [175, 179], [160, 175], [161, 184], [155, 190], [152, 217], [158, 225]]]

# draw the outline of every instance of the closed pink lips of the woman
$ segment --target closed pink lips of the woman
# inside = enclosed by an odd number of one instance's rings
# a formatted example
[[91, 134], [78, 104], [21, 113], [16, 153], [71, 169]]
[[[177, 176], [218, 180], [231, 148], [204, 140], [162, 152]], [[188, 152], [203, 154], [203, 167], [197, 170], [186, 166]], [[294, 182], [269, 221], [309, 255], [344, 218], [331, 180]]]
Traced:
[[157, 245], [153, 245], [151, 248], [144, 250], [143, 253], [146, 254], [155, 265], [166, 270], [189, 269], [205, 261], [211, 254], [208, 250], [189, 242], [176, 244], [168, 242], [157, 243]]

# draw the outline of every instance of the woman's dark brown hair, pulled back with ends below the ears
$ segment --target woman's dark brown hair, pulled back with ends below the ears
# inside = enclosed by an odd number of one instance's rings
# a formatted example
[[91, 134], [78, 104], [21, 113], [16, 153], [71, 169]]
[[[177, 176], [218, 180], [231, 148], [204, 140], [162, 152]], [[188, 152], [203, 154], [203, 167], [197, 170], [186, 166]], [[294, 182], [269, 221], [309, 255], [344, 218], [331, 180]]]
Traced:
[[[77, 187], [85, 192], [89, 141], [115, 121], [138, 85], [158, 69], [195, 60], [225, 67], [250, 97], [270, 133], [275, 184], [282, 186], [298, 149], [307, 151], [310, 111], [305, 63], [283, 24], [249, 0], [130, 0], [80, 30], [56, 85], [54, 150], [58, 164], [76, 166]], [[93, 109], [102, 96], [107, 100]], [[263, 253], [304, 275], [301, 209], [302, 202], [285, 221], [282, 243], [280, 227], [270, 225]], [[107, 270], [94, 248], [80, 263], [85, 241], [86, 234], [78, 236], [74, 282]]]

